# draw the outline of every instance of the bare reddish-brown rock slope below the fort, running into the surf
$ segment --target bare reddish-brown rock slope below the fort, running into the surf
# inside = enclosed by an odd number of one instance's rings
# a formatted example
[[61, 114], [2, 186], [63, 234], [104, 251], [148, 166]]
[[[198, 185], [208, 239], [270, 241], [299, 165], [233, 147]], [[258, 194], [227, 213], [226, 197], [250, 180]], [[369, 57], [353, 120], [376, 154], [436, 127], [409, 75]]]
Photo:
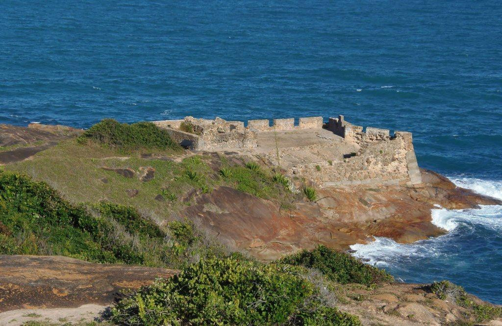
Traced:
[[316, 203], [281, 210], [233, 188], [219, 187], [195, 198], [184, 215], [199, 220], [233, 250], [259, 259], [277, 259], [317, 244], [346, 250], [349, 245], [385, 236], [401, 243], [427, 239], [446, 231], [432, 224], [431, 209], [499, 205], [498, 199], [456, 187], [432, 171], [422, 170], [422, 187], [326, 187]]

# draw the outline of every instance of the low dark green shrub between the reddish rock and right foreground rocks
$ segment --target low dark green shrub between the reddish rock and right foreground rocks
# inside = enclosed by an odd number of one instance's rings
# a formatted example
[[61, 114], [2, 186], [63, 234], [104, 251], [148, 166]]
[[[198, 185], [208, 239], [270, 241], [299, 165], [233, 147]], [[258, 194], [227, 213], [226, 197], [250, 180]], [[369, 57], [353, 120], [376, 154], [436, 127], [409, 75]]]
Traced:
[[348, 253], [320, 245], [312, 251], [303, 250], [282, 259], [282, 262], [301, 265], [321, 271], [328, 279], [346, 284], [365, 285], [392, 281], [394, 278], [385, 270], [364, 264]]

